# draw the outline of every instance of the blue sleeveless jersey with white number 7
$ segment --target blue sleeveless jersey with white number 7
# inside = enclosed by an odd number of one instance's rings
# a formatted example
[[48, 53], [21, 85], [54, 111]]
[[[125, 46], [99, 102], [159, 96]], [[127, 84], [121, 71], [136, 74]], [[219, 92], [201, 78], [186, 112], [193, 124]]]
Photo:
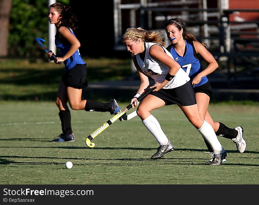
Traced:
[[[202, 72], [202, 66], [200, 64], [199, 56], [197, 55], [197, 52], [194, 48], [192, 41], [186, 41], [186, 52], [184, 56], [178, 55], [178, 53], [175, 51], [174, 47], [171, 45], [167, 46], [167, 50], [172, 54], [175, 61], [180, 64], [181, 68], [189, 75], [191, 82], [192, 79]], [[201, 78], [200, 82], [193, 87], [197, 87], [200, 85], [205, 84], [208, 82], [207, 76], [204, 76]]]

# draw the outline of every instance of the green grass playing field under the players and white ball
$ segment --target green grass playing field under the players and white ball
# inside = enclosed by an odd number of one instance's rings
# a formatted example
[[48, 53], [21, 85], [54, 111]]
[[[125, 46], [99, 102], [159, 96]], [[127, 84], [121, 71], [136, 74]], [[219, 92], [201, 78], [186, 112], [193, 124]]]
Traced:
[[175, 146], [160, 160], [150, 159], [158, 144], [138, 117], [116, 121], [88, 148], [85, 138], [111, 118], [108, 112], [72, 110], [76, 141], [52, 143], [61, 133], [54, 101], [0, 101], [0, 110], [0, 184], [259, 184], [257, 104], [210, 105], [215, 120], [242, 126], [247, 142], [240, 154], [218, 137], [228, 152], [221, 166], [207, 165], [202, 137], [177, 106], [152, 112]]

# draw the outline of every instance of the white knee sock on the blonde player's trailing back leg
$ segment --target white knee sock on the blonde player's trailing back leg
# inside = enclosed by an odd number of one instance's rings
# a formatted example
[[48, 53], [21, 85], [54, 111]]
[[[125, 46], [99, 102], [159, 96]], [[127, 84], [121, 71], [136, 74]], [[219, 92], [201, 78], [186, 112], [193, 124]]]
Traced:
[[197, 130], [201, 133], [202, 137], [210, 144], [214, 154], [220, 154], [222, 152], [223, 148], [217, 138], [217, 135], [215, 134], [215, 131], [209, 123], [204, 120], [200, 129]]

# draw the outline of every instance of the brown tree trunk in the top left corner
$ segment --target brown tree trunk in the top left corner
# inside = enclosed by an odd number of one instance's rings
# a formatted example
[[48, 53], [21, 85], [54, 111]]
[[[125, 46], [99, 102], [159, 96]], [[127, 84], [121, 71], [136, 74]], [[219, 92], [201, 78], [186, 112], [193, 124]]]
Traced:
[[8, 54], [7, 39], [12, 0], [0, 0], [0, 56]]

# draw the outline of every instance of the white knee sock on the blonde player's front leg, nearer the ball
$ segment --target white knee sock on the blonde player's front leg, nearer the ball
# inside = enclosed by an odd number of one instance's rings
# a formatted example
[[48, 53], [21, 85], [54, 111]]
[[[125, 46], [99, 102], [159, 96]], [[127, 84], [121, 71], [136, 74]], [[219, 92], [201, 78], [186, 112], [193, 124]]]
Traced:
[[162, 131], [159, 122], [153, 115], [150, 115], [145, 120], [142, 120], [142, 123], [152, 133], [152, 135], [154, 135], [160, 145], [166, 145], [168, 143], [169, 140], [167, 136]]

